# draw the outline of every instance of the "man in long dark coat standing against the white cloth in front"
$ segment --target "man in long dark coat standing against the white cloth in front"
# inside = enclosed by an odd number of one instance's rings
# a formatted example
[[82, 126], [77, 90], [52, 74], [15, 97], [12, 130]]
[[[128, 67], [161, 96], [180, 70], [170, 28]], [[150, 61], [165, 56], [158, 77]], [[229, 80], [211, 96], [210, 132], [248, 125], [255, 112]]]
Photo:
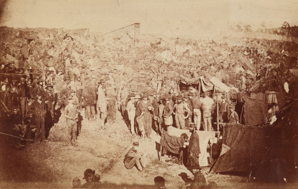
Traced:
[[197, 131], [195, 131], [196, 124], [190, 123], [190, 132], [192, 133], [189, 139], [188, 146], [188, 157], [187, 157], [187, 165], [192, 167], [195, 165], [199, 165], [199, 155], [201, 153], [199, 136]]

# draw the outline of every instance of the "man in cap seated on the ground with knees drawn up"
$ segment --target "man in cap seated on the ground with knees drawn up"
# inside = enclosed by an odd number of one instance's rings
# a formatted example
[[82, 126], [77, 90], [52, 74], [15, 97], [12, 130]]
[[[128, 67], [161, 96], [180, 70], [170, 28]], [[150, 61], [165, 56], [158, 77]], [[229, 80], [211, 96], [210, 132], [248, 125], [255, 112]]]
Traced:
[[134, 142], [133, 145], [124, 157], [124, 166], [126, 169], [131, 169], [136, 165], [142, 171], [146, 166], [146, 161], [143, 158], [143, 153], [138, 152], [139, 142]]

